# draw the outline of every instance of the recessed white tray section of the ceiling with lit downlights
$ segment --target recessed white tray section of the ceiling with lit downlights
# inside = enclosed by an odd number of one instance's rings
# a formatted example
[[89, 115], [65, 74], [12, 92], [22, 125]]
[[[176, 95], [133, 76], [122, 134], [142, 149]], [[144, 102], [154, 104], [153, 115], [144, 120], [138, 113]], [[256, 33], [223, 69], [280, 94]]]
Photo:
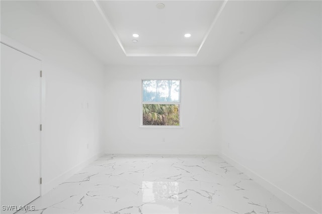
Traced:
[[[127, 56], [196, 56], [222, 1], [105, 1], [97, 4]], [[139, 38], [133, 38], [137, 33]], [[185, 38], [190, 33], [192, 37]], [[138, 42], [133, 43], [136, 39]]]

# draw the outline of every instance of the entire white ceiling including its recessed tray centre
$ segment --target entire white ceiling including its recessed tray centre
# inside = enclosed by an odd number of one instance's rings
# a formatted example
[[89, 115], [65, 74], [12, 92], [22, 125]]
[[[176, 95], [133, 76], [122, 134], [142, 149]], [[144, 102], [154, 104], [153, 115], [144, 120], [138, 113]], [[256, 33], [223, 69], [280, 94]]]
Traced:
[[[156, 4], [165, 4], [157, 9]], [[289, 1], [39, 1], [104, 64], [218, 65]], [[140, 36], [133, 43], [133, 33]], [[191, 33], [185, 38], [185, 33]]]

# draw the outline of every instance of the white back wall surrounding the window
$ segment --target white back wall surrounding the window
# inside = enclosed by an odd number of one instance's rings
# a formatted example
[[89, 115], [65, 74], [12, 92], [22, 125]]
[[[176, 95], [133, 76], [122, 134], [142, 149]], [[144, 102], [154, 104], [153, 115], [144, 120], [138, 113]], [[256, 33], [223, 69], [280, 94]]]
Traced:
[[[141, 79], [163, 78], [182, 80], [183, 128], [140, 128]], [[107, 66], [105, 87], [106, 153], [217, 153], [215, 67]]]

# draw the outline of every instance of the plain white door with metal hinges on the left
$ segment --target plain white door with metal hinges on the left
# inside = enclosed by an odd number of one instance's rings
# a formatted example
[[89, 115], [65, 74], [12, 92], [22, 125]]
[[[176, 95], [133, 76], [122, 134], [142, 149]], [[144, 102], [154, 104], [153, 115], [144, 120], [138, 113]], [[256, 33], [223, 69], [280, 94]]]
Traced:
[[40, 60], [1, 44], [2, 209], [40, 196], [40, 69]]

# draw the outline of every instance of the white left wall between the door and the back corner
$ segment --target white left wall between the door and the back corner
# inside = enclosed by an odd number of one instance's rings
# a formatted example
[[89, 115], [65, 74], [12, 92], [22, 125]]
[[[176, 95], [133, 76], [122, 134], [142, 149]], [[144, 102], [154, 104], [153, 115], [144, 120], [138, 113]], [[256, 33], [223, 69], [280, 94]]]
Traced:
[[41, 173], [46, 192], [103, 152], [104, 67], [36, 2], [1, 1], [1, 33], [43, 55], [46, 103]]

